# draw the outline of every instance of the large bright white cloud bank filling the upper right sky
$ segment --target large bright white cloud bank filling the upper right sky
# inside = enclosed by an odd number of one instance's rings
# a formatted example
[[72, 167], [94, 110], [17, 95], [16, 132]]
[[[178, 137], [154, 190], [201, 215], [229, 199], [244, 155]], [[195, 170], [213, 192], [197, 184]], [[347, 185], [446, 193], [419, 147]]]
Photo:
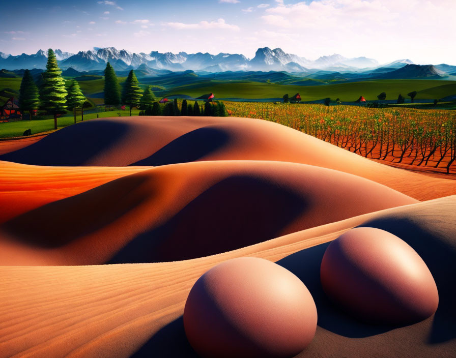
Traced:
[[[425, 55], [431, 61], [433, 51], [435, 57], [447, 57], [449, 52], [456, 55], [454, 47], [447, 42], [448, 34], [456, 33], [454, 0], [439, 0], [438, 4], [430, 0], [313, 0], [297, 4], [276, 0], [276, 3], [265, 10], [261, 19], [276, 31], [289, 29], [294, 35], [289, 41], [275, 44], [285, 48], [294, 46], [295, 53], [308, 58], [337, 52], [386, 62], [402, 57], [413, 60], [414, 54]], [[302, 39], [298, 46], [296, 39]]]

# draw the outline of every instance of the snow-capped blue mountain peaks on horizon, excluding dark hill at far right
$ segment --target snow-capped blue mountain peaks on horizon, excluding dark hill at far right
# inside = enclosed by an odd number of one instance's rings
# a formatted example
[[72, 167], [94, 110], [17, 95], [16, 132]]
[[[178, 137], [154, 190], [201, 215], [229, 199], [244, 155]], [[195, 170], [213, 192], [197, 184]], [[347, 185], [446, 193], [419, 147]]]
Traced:
[[[388, 64], [379, 65], [373, 58], [355, 57], [347, 58], [340, 54], [321, 56], [315, 61], [300, 57], [296, 54], [286, 53], [281, 48], [259, 48], [253, 58], [242, 54], [220, 52], [219, 54], [202, 53], [172, 53], [172, 52], [130, 52], [118, 50], [115, 47], [94, 47], [89, 51], [79, 51], [76, 54], [55, 50], [55, 55], [62, 70], [73, 68], [83, 72], [103, 70], [109, 62], [117, 71], [137, 69], [146, 65], [154, 70], [170, 71], [286, 71], [290, 73], [316, 73], [317, 71], [332, 72], [359, 72], [375, 71], [376, 69], [399, 69], [412, 65], [410, 59], [398, 59]], [[0, 68], [7, 70], [17, 69], [44, 69], [46, 67], [47, 51], [39, 50], [35, 54], [8, 55], [0, 52]], [[445, 71], [442, 66], [438, 70]], [[449, 68], [453, 68], [449, 66]], [[143, 66], [144, 69], [144, 66]], [[445, 71], [447, 72], [447, 71]], [[373, 72], [374, 73], [374, 72]], [[379, 72], [381, 73], [381, 72]]]

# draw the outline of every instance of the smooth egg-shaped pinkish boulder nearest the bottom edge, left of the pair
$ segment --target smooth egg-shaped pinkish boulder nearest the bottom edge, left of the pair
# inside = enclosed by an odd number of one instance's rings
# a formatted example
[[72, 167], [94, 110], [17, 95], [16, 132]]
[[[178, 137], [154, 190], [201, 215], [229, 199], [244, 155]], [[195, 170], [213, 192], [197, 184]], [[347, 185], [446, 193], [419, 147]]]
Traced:
[[286, 358], [312, 340], [317, 309], [290, 271], [260, 258], [236, 258], [196, 281], [185, 304], [184, 327], [203, 357]]

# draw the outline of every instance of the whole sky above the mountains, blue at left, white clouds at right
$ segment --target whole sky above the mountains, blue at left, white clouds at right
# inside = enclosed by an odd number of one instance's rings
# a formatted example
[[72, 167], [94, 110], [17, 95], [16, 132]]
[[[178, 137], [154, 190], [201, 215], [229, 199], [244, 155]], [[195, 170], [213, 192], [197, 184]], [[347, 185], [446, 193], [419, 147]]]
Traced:
[[[20, 1], [4, 12], [0, 51], [114, 46], [230, 52], [280, 47], [308, 59], [340, 53], [386, 63], [456, 65], [454, 0]], [[18, 15], [20, 14], [20, 17]]]

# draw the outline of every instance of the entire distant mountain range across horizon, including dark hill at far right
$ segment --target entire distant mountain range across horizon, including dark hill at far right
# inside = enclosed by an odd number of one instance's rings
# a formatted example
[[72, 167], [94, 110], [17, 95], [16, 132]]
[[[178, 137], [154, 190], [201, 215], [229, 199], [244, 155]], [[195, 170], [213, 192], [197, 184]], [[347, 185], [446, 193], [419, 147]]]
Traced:
[[[162, 75], [168, 71], [197, 72], [210, 75], [221, 72], [287, 72], [300, 78], [318, 80], [346, 80], [382, 78], [429, 78], [456, 79], [456, 66], [447, 64], [415, 65], [410, 59], [398, 59], [388, 64], [379, 65], [372, 58], [346, 58], [339, 54], [322, 56], [310, 61], [295, 54], [285, 53], [280, 48], [271, 50], [269, 47], [259, 48], [251, 59], [240, 54], [219, 53], [134, 53], [118, 50], [114, 47], [98, 48], [78, 53], [54, 50], [64, 75], [77, 77], [78, 74], [102, 75], [109, 62], [117, 72], [127, 73], [134, 69], [139, 77]], [[23, 69], [33, 69], [34, 75], [45, 69], [47, 51], [40, 50], [35, 54], [22, 53], [17, 56], [0, 52], [0, 69], [14, 71], [20, 75]], [[22, 71], [23, 73], [23, 71]], [[0, 77], [10, 76], [0, 73]], [[14, 74], [13, 74], [14, 75]], [[230, 75], [231, 76], [231, 75]], [[242, 75], [238, 74], [236, 77]], [[250, 74], [249, 74], [250, 76]]]

